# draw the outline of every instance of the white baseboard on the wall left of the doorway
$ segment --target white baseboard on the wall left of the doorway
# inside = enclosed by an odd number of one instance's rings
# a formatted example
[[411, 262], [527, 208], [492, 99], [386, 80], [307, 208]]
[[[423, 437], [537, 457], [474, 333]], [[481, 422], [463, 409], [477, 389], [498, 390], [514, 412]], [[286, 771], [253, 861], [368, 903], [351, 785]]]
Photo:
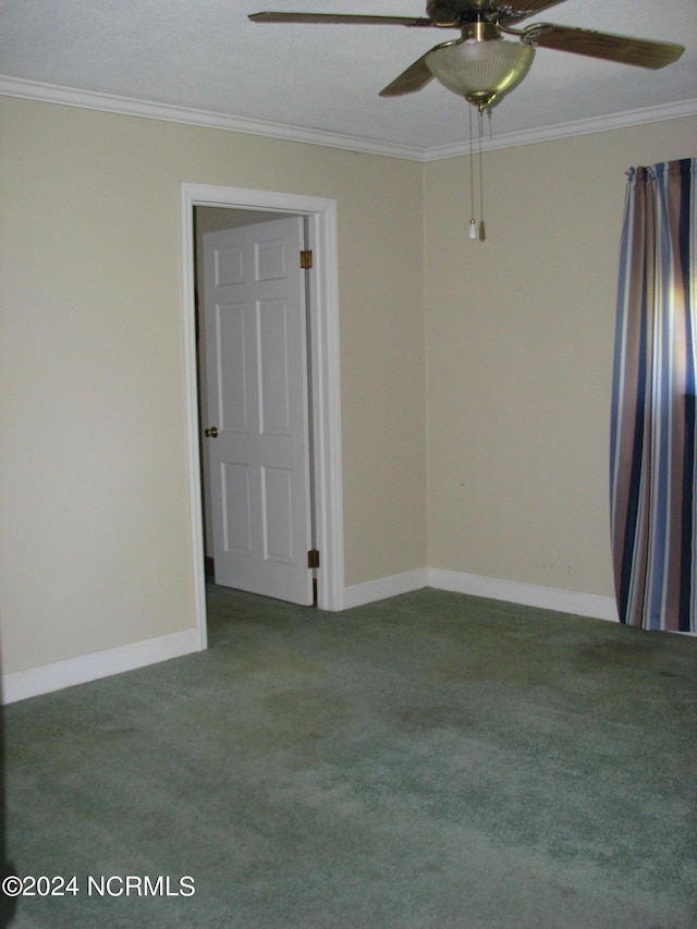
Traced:
[[99, 677], [110, 677], [123, 671], [134, 671], [146, 664], [156, 664], [170, 658], [180, 658], [182, 655], [199, 651], [200, 648], [198, 632], [191, 628], [133, 645], [111, 648], [108, 651], [69, 658], [66, 661], [57, 661], [54, 664], [15, 671], [2, 676], [2, 702], [14, 704], [17, 700], [26, 700], [28, 697], [37, 697], [39, 694], [62, 690], [64, 687], [86, 684]]

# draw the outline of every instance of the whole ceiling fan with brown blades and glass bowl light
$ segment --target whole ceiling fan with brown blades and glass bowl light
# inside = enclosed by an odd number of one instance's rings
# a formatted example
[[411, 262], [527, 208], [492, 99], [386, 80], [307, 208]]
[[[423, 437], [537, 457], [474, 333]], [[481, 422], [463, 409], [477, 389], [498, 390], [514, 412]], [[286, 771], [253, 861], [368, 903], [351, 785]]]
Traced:
[[[316, 23], [320, 25], [378, 25], [407, 28], [454, 28], [461, 37], [435, 46], [380, 91], [381, 97], [413, 94], [436, 77], [482, 112], [515, 87], [533, 63], [535, 48], [571, 51], [634, 64], [664, 68], [685, 51], [673, 42], [615, 36], [591, 29], [533, 23], [516, 28], [521, 20], [564, 0], [427, 0], [426, 16], [379, 16], [335, 13], [254, 13], [255, 23]], [[519, 41], [509, 41], [503, 35]]]

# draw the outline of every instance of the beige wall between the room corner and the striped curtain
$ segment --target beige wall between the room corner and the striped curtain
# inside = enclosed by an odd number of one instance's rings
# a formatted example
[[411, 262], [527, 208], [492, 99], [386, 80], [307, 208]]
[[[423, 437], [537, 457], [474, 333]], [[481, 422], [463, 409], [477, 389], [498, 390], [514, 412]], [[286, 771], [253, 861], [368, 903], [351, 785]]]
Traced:
[[613, 595], [624, 172], [696, 140], [686, 119], [486, 154], [486, 243], [467, 160], [425, 167], [430, 567]]

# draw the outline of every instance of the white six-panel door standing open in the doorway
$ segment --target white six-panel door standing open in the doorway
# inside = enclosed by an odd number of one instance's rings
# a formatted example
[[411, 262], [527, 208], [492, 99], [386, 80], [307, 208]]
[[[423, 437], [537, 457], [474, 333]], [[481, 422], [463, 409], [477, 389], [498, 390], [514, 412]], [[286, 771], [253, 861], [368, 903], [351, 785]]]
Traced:
[[203, 426], [216, 583], [309, 604], [302, 247], [295, 216], [204, 236]]

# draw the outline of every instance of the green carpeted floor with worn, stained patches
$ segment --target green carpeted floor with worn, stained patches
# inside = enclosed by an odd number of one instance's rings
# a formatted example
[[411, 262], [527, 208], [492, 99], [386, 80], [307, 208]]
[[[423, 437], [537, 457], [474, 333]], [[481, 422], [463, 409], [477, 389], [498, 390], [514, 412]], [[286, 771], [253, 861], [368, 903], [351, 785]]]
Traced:
[[697, 639], [435, 590], [209, 612], [207, 652], [5, 709], [10, 857], [76, 876], [14, 926], [697, 926]]

